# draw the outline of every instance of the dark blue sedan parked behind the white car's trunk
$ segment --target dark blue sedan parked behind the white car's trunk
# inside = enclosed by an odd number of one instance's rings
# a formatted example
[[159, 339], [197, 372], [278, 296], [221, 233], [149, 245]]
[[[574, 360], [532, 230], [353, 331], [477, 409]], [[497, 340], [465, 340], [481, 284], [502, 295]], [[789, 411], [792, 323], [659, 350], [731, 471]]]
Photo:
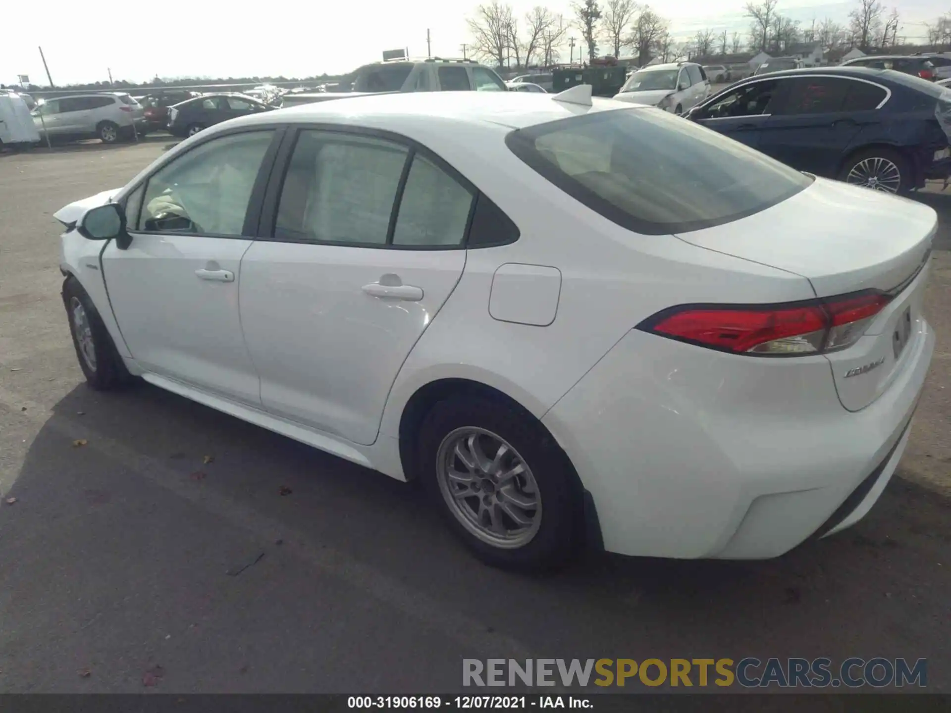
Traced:
[[801, 171], [891, 193], [951, 175], [951, 90], [890, 69], [750, 77], [688, 118]]

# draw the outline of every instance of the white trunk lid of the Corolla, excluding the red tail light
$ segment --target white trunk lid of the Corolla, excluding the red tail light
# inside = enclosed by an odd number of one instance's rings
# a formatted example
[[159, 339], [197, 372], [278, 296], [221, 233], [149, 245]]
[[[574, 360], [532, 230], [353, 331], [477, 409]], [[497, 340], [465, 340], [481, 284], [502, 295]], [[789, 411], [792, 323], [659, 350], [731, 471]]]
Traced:
[[859, 411], [922, 350], [928, 329], [922, 299], [937, 224], [935, 211], [921, 203], [817, 179], [755, 215], [677, 237], [801, 275], [820, 298], [889, 293], [863, 337], [826, 354], [842, 405]]

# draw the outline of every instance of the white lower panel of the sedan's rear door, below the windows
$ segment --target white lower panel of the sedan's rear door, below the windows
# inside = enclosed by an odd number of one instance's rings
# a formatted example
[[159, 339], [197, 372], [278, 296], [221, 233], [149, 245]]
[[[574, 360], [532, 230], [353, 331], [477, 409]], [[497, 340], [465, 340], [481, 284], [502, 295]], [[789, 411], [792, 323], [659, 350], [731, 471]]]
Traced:
[[[399, 367], [464, 266], [462, 250], [255, 242], [243, 260], [241, 312], [263, 407], [373, 443]], [[387, 285], [410, 294], [374, 291]]]

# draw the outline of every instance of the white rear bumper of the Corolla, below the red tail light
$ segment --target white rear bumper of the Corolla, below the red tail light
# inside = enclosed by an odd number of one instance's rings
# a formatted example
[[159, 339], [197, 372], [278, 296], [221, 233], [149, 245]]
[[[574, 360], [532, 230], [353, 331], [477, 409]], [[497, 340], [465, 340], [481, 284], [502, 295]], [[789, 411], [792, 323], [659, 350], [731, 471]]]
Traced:
[[591, 493], [605, 549], [775, 557], [874, 504], [902, 456], [934, 343], [924, 323], [902, 374], [851, 413], [824, 357], [792, 367], [632, 331], [542, 420]]

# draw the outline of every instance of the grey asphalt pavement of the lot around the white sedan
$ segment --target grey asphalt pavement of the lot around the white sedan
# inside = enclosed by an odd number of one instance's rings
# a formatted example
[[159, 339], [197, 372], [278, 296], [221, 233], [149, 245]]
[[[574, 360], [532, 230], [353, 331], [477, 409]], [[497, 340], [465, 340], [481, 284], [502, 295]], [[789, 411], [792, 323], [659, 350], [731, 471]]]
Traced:
[[864, 521], [766, 562], [525, 577], [412, 486], [144, 384], [87, 389], [52, 213], [169, 141], [0, 156], [0, 692], [445, 693], [463, 658], [746, 656], [923, 657], [951, 689], [951, 195], [917, 199], [941, 214], [939, 348]]

